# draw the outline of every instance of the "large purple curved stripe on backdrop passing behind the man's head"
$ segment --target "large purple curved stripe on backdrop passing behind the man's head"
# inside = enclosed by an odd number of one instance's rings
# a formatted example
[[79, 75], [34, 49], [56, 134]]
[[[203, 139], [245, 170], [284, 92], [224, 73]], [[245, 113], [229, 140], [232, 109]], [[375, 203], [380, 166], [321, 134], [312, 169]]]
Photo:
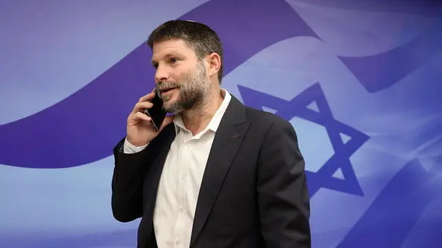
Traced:
[[[180, 19], [201, 21], [218, 32], [224, 44], [224, 74], [278, 41], [296, 36], [317, 38], [282, 0], [209, 1]], [[150, 59], [151, 51], [142, 44], [63, 101], [1, 125], [0, 163], [62, 168], [110, 156], [125, 135], [133, 105], [153, 88]]]

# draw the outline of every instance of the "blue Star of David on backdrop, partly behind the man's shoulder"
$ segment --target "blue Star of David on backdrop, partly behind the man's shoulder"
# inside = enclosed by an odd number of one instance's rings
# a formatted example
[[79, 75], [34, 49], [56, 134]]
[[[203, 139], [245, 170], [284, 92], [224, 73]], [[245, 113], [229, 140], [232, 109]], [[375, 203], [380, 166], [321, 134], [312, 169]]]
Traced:
[[[334, 118], [319, 83], [311, 85], [291, 101], [240, 85], [238, 88], [245, 105], [260, 110], [263, 110], [263, 107], [269, 107], [276, 110], [275, 114], [287, 121], [296, 116], [325, 127], [334, 154], [317, 172], [306, 171], [310, 196], [314, 196], [321, 188], [363, 196], [361, 185], [349, 158], [368, 140], [369, 136]], [[316, 103], [317, 111], [308, 107], [311, 103]], [[343, 141], [341, 134], [349, 136], [350, 139]], [[334, 174], [339, 171], [343, 178], [334, 177]]]

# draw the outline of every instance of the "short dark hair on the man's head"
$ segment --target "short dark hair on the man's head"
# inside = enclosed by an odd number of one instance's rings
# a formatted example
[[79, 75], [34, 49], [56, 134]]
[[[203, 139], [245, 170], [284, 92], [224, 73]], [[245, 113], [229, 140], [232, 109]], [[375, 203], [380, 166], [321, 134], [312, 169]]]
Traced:
[[198, 59], [203, 59], [204, 56], [212, 52], [217, 53], [221, 59], [220, 70], [218, 71], [218, 81], [221, 83], [223, 70], [222, 45], [215, 31], [203, 23], [171, 20], [155, 28], [149, 35], [147, 44], [152, 49], [154, 43], [171, 39], [182, 39], [185, 41], [195, 50]]

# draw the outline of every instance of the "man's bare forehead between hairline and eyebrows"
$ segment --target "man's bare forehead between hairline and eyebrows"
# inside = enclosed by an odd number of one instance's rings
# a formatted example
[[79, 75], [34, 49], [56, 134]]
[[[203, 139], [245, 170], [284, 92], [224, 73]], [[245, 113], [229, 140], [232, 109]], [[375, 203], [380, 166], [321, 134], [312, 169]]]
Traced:
[[153, 44], [152, 48], [152, 60], [157, 61], [165, 56], [171, 56], [173, 54], [182, 54], [185, 56], [191, 56], [195, 54], [193, 48], [191, 48], [185, 41], [181, 39], [172, 39], [168, 41], [159, 41]]

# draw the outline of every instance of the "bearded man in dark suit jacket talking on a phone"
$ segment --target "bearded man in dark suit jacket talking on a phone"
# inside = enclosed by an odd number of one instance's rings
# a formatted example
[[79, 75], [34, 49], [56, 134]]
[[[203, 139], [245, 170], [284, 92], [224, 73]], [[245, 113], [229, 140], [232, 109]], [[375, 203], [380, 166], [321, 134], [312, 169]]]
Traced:
[[202, 23], [148, 38], [167, 116], [155, 132], [142, 96], [114, 149], [112, 209], [142, 218], [138, 247], [311, 247], [305, 163], [288, 121], [220, 88], [222, 45]]

